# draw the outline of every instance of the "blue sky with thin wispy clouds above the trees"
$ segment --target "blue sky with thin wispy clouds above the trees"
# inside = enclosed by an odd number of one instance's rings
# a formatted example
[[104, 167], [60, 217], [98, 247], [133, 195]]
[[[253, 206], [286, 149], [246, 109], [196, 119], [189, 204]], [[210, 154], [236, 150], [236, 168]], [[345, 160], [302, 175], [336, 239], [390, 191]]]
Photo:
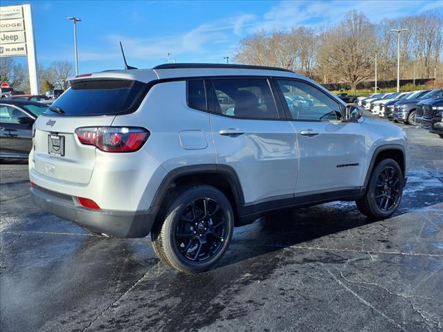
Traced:
[[[349, 10], [372, 22], [426, 10], [443, 13], [440, 1], [11, 1], [30, 3], [37, 61], [74, 61], [73, 23], [77, 25], [80, 73], [123, 68], [118, 42], [130, 66], [151, 68], [177, 62], [224, 63], [233, 59], [239, 40], [257, 30], [320, 28], [341, 21]], [[26, 57], [17, 57], [26, 63]]]

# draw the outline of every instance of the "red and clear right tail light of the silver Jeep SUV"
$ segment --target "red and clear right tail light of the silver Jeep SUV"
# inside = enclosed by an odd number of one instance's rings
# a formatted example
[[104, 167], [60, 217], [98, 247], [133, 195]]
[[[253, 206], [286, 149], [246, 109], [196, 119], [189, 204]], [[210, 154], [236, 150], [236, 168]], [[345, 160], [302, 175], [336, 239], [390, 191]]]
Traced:
[[134, 152], [145, 144], [150, 132], [138, 127], [82, 127], [75, 129], [78, 140], [107, 152]]

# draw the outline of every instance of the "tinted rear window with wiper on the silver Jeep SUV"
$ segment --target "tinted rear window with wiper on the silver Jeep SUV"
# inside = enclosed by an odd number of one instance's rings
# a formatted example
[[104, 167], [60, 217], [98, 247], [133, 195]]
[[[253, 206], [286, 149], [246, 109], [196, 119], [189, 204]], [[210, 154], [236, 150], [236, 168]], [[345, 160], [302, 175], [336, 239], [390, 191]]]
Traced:
[[[63, 116], [105, 116], [132, 111], [141, 98], [144, 83], [131, 80], [89, 80], [75, 82], [51, 105]], [[57, 115], [49, 110], [51, 116]]]

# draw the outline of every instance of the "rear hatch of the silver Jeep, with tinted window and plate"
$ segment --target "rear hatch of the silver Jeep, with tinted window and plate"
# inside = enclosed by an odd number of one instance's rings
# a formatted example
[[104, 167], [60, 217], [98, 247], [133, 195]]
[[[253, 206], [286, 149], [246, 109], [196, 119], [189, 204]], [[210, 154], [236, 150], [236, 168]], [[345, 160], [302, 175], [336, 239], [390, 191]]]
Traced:
[[135, 111], [146, 84], [136, 80], [76, 80], [35, 122], [33, 169], [71, 183], [87, 184], [96, 147], [80, 143], [75, 129], [111, 126], [117, 114]]

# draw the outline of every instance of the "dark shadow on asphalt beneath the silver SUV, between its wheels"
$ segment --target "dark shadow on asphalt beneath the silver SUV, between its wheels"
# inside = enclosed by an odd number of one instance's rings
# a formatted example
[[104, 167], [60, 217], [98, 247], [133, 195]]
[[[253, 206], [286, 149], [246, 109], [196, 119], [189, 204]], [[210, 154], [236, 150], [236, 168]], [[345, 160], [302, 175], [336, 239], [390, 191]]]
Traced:
[[[237, 264], [291, 246], [309, 246], [322, 237], [328, 237], [323, 243], [341, 241], [347, 246], [360, 246], [359, 239], [344, 232], [373, 222], [356, 209], [354, 202], [273, 212], [251, 225], [236, 228], [230, 250], [217, 266]], [[318, 241], [312, 246], [317, 245]]]

